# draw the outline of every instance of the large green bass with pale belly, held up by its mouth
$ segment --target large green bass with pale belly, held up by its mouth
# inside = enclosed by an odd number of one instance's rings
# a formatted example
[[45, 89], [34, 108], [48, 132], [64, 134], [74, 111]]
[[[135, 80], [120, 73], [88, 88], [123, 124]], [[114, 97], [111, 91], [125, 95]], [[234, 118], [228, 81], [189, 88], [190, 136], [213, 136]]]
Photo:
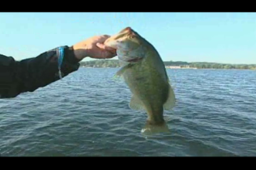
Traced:
[[164, 111], [175, 107], [176, 96], [154, 45], [131, 26], [108, 37], [104, 45], [116, 49], [121, 68], [114, 77], [122, 77], [130, 88], [131, 110], [147, 113], [141, 133], [169, 133]]

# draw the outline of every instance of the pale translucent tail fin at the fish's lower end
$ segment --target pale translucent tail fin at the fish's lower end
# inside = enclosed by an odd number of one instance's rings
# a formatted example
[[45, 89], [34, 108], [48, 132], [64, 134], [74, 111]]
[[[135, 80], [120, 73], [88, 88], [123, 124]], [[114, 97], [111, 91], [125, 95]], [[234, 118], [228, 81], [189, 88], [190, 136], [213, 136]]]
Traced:
[[157, 133], [170, 133], [170, 129], [166, 121], [158, 124], [147, 121], [141, 132], [143, 135], [151, 136]]

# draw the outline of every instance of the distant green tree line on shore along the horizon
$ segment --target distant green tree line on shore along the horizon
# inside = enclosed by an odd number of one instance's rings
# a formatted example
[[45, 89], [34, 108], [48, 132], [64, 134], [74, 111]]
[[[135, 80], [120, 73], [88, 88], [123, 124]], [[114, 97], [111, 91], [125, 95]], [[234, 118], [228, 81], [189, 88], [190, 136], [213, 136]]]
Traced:
[[[185, 62], [185, 61], [164, 61], [166, 66], [180, 66], [181, 68], [196, 68], [196, 69], [245, 69], [256, 70], [256, 64], [222, 64], [211, 62]], [[80, 66], [84, 67], [120, 67], [118, 59], [96, 59], [90, 61], [81, 61]]]

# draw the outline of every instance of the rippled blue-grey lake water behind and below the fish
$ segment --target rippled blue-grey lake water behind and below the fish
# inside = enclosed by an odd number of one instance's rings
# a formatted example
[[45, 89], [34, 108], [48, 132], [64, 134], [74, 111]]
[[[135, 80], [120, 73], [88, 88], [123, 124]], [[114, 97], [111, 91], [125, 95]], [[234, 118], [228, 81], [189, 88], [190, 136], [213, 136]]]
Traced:
[[117, 68], [79, 71], [0, 99], [2, 156], [256, 156], [256, 71], [167, 70], [171, 133], [145, 138]]

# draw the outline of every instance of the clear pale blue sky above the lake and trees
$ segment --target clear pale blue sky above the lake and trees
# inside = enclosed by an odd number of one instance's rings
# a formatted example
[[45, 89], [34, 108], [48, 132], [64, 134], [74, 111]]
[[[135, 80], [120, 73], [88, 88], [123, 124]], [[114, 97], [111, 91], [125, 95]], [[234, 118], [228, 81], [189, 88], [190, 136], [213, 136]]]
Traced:
[[256, 64], [256, 13], [0, 13], [0, 54], [27, 59], [126, 26], [165, 61]]

